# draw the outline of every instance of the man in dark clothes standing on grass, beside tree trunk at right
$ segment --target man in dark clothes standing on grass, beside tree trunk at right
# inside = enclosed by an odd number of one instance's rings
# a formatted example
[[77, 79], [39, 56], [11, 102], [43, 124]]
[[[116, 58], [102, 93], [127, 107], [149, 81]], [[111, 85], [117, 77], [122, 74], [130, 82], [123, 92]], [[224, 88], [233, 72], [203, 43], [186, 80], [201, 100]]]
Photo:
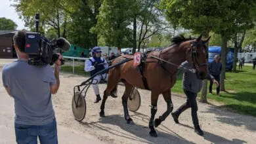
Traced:
[[[214, 58], [215, 60], [211, 62], [209, 65], [209, 73], [219, 83], [223, 65], [219, 61], [219, 55], [216, 54]], [[213, 81], [210, 82], [210, 86], [209, 86], [209, 93], [211, 94], [212, 94], [212, 88], [213, 88], [212, 86], [213, 86]], [[220, 86], [217, 86], [217, 90], [216, 90], [217, 95], [219, 95], [219, 91], [220, 91]]]

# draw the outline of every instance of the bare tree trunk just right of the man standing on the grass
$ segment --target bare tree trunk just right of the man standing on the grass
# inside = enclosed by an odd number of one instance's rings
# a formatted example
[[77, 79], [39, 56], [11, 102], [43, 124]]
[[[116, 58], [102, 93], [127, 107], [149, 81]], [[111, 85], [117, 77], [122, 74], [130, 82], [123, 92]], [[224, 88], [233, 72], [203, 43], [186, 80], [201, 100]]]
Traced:
[[221, 90], [225, 91], [225, 85], [224, 85], [224, 79], [225, 79], [225, 74], [226, 74], [226, 35], [221, 34], [221, 64], [223, 65], [222, 70], [221, 70]]

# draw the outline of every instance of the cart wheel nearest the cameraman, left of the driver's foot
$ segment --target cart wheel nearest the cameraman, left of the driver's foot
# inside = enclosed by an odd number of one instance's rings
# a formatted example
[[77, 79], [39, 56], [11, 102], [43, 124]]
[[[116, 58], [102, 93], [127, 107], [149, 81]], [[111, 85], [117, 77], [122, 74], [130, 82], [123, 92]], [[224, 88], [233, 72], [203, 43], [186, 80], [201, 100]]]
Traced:
[[[75, 117], [75, 120], [81, 122], [85, 118], [86, 114], [86, 102], [83, 94], [79, 97], [80, 92], [75, 92], [75, 96], [72, 98], [72, 111]], [[78, 100], [77, 100], [78, 99]], [[77, 101], [77, 107], [75, 105]]]

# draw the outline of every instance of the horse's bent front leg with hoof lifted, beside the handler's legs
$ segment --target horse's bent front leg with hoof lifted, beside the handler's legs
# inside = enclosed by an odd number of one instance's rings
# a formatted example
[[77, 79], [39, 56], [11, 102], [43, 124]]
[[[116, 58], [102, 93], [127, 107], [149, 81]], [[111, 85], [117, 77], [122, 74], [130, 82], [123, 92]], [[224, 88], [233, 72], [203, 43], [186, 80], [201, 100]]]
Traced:
[[165, 99], [165, 102], [167, 103], [167, 111], [163, 113], [159, 118], [156, 118], [154, 124], [156, 127], [158, 127], [165, 118], [168, 117], [168, 115], [173, 111], [173, 103], [171, 101], [171, 90], [167, 90], [163, 92], [163, 98]]

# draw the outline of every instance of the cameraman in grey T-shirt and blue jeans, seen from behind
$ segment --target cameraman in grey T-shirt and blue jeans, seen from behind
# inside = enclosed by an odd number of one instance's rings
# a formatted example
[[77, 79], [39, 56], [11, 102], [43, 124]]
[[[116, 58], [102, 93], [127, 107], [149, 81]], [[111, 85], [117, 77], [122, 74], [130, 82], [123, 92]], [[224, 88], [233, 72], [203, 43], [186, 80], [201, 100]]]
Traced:
[[50, 65], [28, 64], [29, 55], [24, 52], [26, 31], [17, 31], [13, 37], [18, 60], [3, 67], [3, 86], [14, 98], [14, 127], [17, 143], [58, 143], [56, 119], [51, 94], [60, 86], [58, 57], [54, 69]]

